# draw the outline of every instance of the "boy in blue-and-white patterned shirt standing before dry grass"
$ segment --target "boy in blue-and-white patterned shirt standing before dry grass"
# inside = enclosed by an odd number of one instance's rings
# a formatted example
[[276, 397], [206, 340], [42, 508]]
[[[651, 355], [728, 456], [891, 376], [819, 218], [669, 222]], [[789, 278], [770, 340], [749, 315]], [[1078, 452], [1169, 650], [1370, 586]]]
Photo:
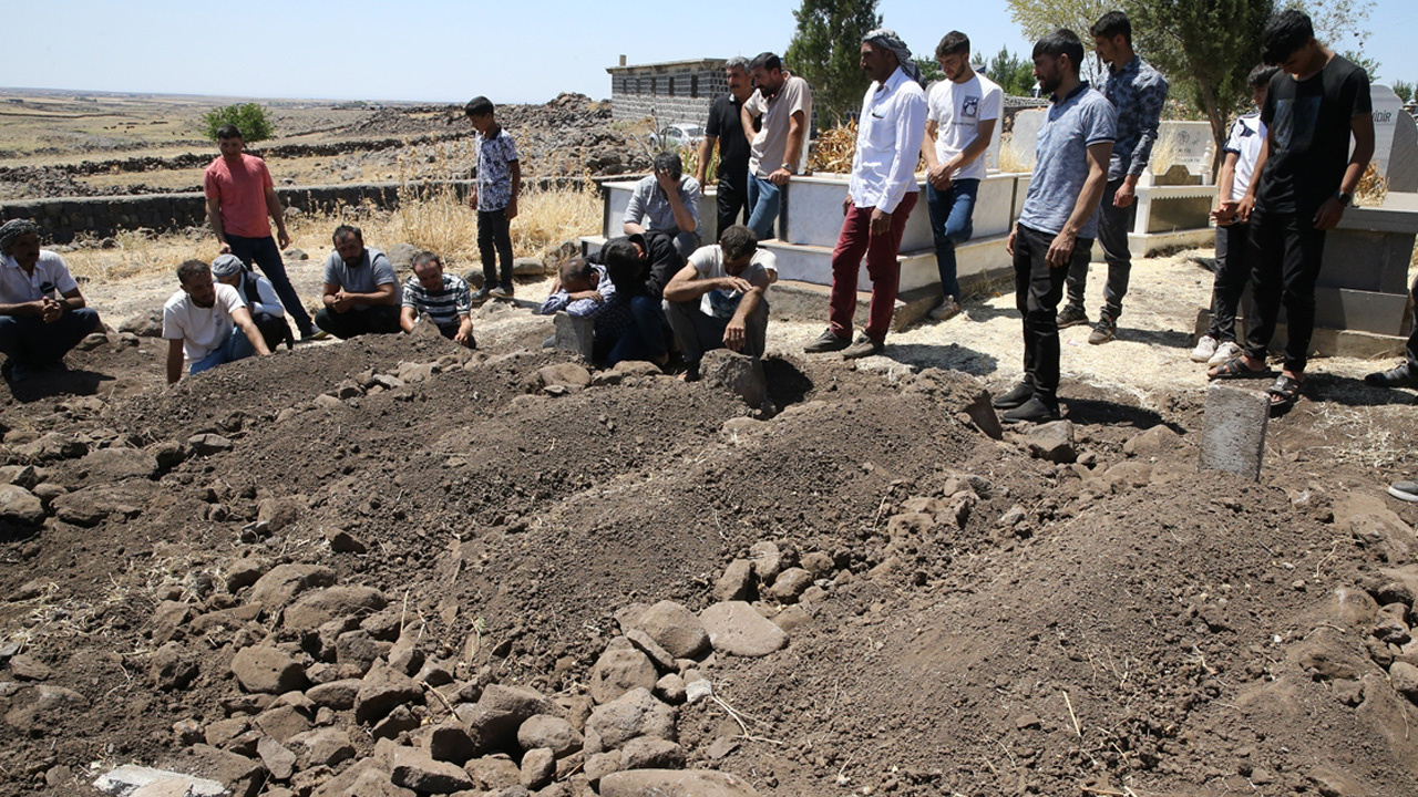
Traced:
[[[492, 101], [475, 96], [464, 108], [472, 122], [478, 147], [478, 180], [474, 183], [468, 206], [478, 211], [478, 251], [482, 257], [482, 288], [474, 301], [512, 298], [512, 235], [508, 224], [518, 217], [518, 194], [522, 193], [522, 163], [512, 136], [498, 125]], [[498, 279], [498, 261], [502, 278]]]

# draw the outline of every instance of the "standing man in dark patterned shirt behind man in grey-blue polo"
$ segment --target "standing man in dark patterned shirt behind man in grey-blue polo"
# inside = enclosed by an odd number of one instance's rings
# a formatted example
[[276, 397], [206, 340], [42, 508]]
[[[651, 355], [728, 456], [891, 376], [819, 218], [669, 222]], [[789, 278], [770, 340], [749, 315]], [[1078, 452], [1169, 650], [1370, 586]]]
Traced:
[[[1098, 223], [1098, 243], [1107, 261], [1107, 282], [1103, 285], [1103, 309], [1098, 325], [1088, 336], [1089, 343], [1099, 345], [1107, 343], [1117, 333], [1117, 316], [1123, 312], [1123, 296], [1127, 295], [1127, 279], [1133, 272], [1133, 255], [1127, 248], [1127, 233], [1137, 216], [1133, 200], [1137, 179], [1151, 160], [1161, 109], [1167, 105], [1167, 81], [1133, 52], [1133, 26], [1127, 14], [1109, 11], [1093, 23], [1089, 33], [1098, 55], [1107, 64], [1100, 91], [1117, 113], [1117, 133]], [[1083, 258], [1069, 267], [1068, 305], [1059, 312], [1059, 328], [1088, 323], [1083, 288], [1088, 285], [1090, 260]]]

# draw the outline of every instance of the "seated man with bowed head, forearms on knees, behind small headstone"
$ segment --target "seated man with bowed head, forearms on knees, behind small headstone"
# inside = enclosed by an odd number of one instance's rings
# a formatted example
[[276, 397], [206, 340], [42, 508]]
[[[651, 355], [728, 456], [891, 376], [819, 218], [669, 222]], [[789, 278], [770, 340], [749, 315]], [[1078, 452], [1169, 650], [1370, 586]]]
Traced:
[[754, 360], [763, 356], [769, 329], [764, 294], [778, 278], [773, 252], [743, 224], [719, 243], [689, 255], [689, 264], [665, 285], [665, 313], [685, 356], [685, 381], [699, 379], [705, 352], [727, 347]]

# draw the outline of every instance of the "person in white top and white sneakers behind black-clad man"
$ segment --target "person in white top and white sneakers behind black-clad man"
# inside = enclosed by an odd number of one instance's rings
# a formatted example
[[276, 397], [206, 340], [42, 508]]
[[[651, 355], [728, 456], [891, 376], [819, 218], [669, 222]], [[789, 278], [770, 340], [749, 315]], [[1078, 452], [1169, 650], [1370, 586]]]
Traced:
[[[1225, 162], [1222, 162], [1221, 174], [1217, 177], [1217, 196], [1222, 199], [1219, 207], [1211, 211], [1211, 218], [1217, 223], [1211, 326], [1197, 340], [1197, 347], [1191, 350], [1194, 362], [1208, 366], [1219, 366], [1241, 355], [1241, 346], [1236, 345], [1236, 308], [1241, 305], [1241, 295], [1251, 279], [1251, 223], [1241, 221], [1238, 210], [1254, 182], [1255, 162], [1261, 157], [1261, 145], [1266, 136], [1259, 109], [1265, 106], [1271, 78], [1279, 71], [1278, 67], [1265, 64], [1251, 69], [1246, 82], [1251, 87], [1251, 99], [1255, 102], [1256, 111], [1241, 116], [1231, 125], [1231, 135], [1227, 136], [1227, 143], [1221, 150], [1225, 153]], [[1246, 311], [1246, 315], [1255, 315], [1254, 308]]]

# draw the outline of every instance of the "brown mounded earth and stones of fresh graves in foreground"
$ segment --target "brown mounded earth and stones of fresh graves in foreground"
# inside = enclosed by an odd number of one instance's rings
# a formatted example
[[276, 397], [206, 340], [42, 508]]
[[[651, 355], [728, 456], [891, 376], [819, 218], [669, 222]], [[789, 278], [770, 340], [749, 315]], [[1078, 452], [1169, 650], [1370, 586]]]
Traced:
[[379, 339], [27, 406], [6, 790], [1414, 791], [1381, 503], [1164, 425], [997, 441], [954, 373], [767, 370], [773, 417]]

